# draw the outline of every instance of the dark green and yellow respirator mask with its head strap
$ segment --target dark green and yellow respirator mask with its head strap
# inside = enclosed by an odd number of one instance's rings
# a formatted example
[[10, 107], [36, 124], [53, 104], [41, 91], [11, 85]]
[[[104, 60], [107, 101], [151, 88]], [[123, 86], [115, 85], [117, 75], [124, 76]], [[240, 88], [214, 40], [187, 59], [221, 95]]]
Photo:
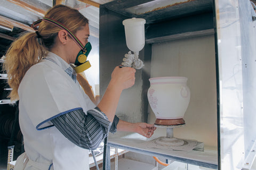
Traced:
[[73, 32], [71, 32], [67, 27], [65, 27], [65, 25], [62, 25], [61, 23], [59, 23], [58, 21], [55, 21], [53, 19], [50, 18], [46, 18], [44, 17], [41, 20], [38, 20], [36, 22], [34, 22], [31, 27], [34, 30], [37, 30], [36, 27], [39, 25], [39, 23], [41, 23], [42, 21], [45, 22], [49, 22], [54, 24], [55, 26], [59, 27], [62, 30], [66, 30], [68, 32], [68, 35], [75, 41], [75, 43], [81, 48], [81, 50], [79, 51], [79, 53], [77, 54], [76, 57], [76, 61], [75, 61], [75, 66], [74, 69], [76, 71], [76, 73], [81, 73], [87, 69], [89, 69], [91, 67], [91, 64], [89, 61], [87, 61], [87, 56], [89, 55], [89, 53], [91, 52], [92, 49], [92, 45], [91, 43], [87, 43], [85, 46], [83, 46], [83, 44], [81, 43], [81, 41], [74, 35]]

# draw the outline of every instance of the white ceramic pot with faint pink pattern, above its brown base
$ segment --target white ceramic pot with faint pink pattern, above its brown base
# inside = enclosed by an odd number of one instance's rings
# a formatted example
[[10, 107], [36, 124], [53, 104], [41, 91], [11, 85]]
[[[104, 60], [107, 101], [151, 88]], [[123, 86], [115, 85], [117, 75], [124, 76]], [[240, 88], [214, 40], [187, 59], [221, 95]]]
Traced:
[[187, 80], [185, 77], [149, 79], [148, 101], [158, 120], [183, 120], [190, 100]]

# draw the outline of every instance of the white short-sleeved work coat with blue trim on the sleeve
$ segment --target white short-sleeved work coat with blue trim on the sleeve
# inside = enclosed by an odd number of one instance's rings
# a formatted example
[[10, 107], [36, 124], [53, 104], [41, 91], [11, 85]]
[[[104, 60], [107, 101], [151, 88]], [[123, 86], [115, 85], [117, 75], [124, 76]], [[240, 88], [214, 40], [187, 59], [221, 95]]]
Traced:
[[[49, 56], [63, 65], [57, 55]], [[19, 122], [29, 158], [26, 170], [89, 169], [88, 150], [70, 142], [50, 120], [79, 108], [86, 113], [95, 105], [57, 64], [42, 60], [27, 71], [19, 86]]]

